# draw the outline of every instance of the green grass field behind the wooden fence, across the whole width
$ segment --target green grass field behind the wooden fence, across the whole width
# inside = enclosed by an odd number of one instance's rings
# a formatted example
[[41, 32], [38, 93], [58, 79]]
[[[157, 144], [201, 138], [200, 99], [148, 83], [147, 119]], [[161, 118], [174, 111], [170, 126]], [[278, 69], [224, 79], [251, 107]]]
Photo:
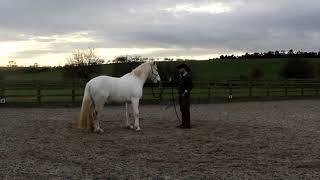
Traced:
[[[285, 59], [187, 61], [186, 63], [193, 70], [194, 81], [201, 82], [195, 84], [192, 97], [196, 101], [212, 102], [221, 99], [228, 100], [230, 94], [233, 99], [319, 96], [318, 81], [310, 81], [311, 85], [306, 84], [308, 83], [306, 80], [298, 84], [291, 82], [292, 84], [284, 85], [286, 82], [279, 77], [279, 71], [285, 61]], [[310, 61], [320, 67], [318, 59]], [[177, 63], [180, 62], [160, 62], [159, 67], [175, 68]], [[112, 75], [112, 68], [111, 64], [103, 65], [103, 74]], [[252, 87], [249, 85], [251, 80], [228, 81], [248, 77], [254, 68], [263, 70], [265, 75], [263, 79], [268, 79], [268, 81], [260, 80]], [[8, 102], [81, 102], [84, 84], [77, 84], [73, 87], [72, 82], [64, 80], [61, 69], [51, 69], [41, 73], [24, 73], [19, 68], [15, 70], [0, 68], [0, 72], [4, 74], [3, 80], [0, 80], [0, 96], [7, 97]], [[37, 81], [42, 83], [40, 90], [38, 90]], [[211, 82], [210, 85], [209, 82]], [[231, 89], [228, 83], [232, 84]], [[156, 91], [158, 93], [157, 88]], [[167, 102], [171, 99], [171, 88], [166, 88], [161, 101]], [[144, 88], [144, 102], [159, 100], [152, 96], [151, 88]]]

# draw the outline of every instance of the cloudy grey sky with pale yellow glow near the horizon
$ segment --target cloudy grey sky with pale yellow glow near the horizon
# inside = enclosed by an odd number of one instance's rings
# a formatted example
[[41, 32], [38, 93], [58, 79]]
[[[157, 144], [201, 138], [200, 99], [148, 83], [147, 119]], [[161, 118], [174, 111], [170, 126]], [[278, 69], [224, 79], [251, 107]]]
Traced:
[[320, 50], [319, 0], [0, 0], [0, 65]]

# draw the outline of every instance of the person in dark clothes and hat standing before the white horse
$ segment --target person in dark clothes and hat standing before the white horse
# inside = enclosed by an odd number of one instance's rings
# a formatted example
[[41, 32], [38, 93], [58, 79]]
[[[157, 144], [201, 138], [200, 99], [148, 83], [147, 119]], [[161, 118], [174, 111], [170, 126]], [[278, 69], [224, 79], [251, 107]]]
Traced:
[[179, 93], [180, 111], [182, 114], [182, 124], [178, 127], [190, 129], [190, 93], [193, 88], [191, 69], [186, 64], [180, 64], [176, 68], [179, 73], [177, 89]]

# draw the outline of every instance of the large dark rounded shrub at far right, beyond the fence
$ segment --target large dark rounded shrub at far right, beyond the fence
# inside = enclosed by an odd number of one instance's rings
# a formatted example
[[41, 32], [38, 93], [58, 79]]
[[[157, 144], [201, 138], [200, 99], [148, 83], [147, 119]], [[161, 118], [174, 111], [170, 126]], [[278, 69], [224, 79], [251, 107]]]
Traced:
[[280, 76], [288, 79], [314, 78], [314, 65], [307, 60], [293, 58], [286, 61], [280, 70]]

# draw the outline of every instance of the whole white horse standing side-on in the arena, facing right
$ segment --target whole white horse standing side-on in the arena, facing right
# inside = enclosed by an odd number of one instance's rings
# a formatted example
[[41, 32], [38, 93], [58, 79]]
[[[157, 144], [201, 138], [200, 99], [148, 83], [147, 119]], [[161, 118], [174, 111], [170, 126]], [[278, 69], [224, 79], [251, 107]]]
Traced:
[[[98, 112], [103, 110], [105, 103], [125, 103], [126, 126], [140, 131], [139, 101], [142, 97], [143, 85], [147, 79], [154, 83], [160, 82], [158, 68], [155, 62], [146, 62], [120, 78], [99, 76], [91, 79], [84, 91], [79, 127], [102, 133]], [[131, 102], [134, 126], [129, 123], [128, 103]]]

